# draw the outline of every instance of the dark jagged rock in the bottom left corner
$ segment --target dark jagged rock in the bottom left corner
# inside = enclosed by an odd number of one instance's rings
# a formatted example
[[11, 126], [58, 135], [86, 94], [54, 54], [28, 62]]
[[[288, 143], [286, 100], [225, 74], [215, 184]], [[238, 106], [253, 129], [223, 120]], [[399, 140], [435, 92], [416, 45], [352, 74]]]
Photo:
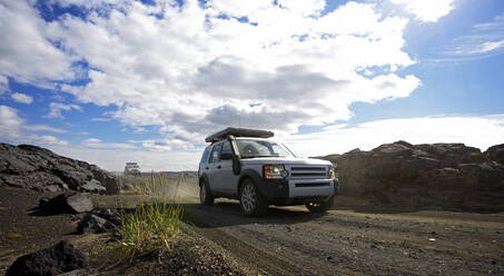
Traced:
[[52, 247], [19, 257], [9, 267], [6, 276], [59, 275], [88, 265], [83, 253], [61, 240]]

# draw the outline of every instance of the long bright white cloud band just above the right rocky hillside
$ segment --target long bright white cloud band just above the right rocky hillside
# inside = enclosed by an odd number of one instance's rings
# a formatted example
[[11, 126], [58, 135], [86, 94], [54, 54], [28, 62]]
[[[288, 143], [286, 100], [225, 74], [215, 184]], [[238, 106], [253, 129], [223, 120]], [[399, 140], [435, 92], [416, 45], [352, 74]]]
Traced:
[[504, 115], [481, 117], [424, 117], [388, 119], [356, 126], [334, 125], [322, 132], [285, 138], [306, 156], [343, 154], [355, 148], [373, 149], [382, 144], [464, 142], [486, 150], [504, 141]]

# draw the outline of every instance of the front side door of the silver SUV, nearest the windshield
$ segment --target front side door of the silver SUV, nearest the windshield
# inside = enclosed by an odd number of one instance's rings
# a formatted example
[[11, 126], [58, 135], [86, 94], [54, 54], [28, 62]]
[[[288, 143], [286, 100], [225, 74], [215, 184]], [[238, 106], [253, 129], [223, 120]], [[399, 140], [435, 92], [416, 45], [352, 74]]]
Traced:
[[219, 164], [219, 183], [221, 185], [223, 193], [226, 195], [236, 195], [238, 176], [233, 172], [233, 151], [229, 141], [225, 141], [223, 144]]

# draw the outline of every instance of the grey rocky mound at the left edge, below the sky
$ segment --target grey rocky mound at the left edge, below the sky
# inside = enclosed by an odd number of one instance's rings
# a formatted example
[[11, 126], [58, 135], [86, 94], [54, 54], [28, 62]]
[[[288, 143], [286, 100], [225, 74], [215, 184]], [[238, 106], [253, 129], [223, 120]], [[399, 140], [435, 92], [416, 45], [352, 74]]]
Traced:
[[48, 149], [0, 144], [0, 186], [36, 190], [117, 191], [117, 178], [96, 165], [59, 156]]

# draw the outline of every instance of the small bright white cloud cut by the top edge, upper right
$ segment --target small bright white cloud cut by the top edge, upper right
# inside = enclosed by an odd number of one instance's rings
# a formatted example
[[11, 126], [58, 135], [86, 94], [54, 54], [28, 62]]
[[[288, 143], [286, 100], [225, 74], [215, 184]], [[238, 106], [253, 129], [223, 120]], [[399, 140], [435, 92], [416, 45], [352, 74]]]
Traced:
[[415, 14], [423, 22], [436, 22], [448, 14], [455, 7], [455, 0], [391, 0], [404, 6], [405, 11]]

